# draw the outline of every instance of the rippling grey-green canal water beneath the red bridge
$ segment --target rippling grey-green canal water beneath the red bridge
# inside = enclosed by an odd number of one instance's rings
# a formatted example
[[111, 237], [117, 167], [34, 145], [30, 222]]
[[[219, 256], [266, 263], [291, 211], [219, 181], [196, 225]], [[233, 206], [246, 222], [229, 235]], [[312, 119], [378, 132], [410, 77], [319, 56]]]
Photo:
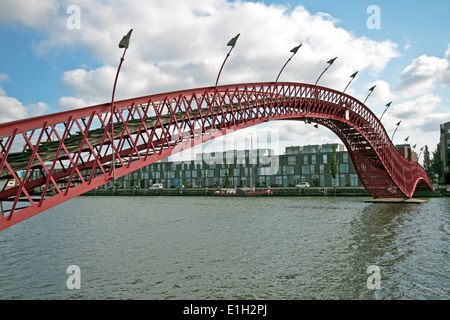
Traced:
[[78, 197], [0, 233], [0, 299], [449, 299], [450, 198], [363, 200]]

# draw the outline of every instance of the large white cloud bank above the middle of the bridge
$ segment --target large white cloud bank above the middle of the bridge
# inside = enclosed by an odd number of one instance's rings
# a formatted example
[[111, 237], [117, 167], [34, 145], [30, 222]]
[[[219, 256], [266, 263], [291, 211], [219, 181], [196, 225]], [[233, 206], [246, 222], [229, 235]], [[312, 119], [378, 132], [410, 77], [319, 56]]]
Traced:
[[[52, 8], [52, 3], [47, 2], [47, 7]], [[225, 0], [84, 1], [79, 4], [81, 28], [70, 30], [65, 24], [68, 15], [62, 10], [70, 4], [60, 1], [62, 14], [53, 21], [42, 21], [44, 39], [35, 49], [44, 55], [73, 47], [89, 52], [102, 64], [64, 73], [63, 85], [74, 98], [89, 104], [110, 100], [122, 54], [117, 45], [130, 28], [134, 31], [119, 76], [117, 99], [213, 85], [229, 49], [226, 43], [237, 33], [241, 36], [219, 84], [274, 81], [289, 50], [298, 43], [303, 46], [280, 81], [314, 83], [326, 61], [338, 56], [319, 85], [342, 90], [355, 70], [373, 76], [399, 56], [395, 43], [356, 37], [337, 27], [339, 21], [329, 14], [311, 14], [302, 6]], [[61, 104], [68, 107], [64, 101]]]

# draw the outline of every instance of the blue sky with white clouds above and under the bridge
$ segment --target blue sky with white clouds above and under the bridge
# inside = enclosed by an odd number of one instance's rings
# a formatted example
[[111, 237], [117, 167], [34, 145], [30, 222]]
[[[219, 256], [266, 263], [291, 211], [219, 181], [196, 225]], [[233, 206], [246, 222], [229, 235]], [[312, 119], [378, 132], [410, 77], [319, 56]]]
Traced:
[[[394, 142], [416, 150], [439, 142], [450, 121], [448, 0], [0, 0], [0, 122], [108, 102], [133, 34], [116, 100], [214, 84], [229, 47], [238, 43], [220, 84], [274, 81], [294, 46], [303, 46], [280, 81], [314, 83], [367, 100]], [[339, 142], [325, 128], [270, 122], [208, 148]], [[239, 137], [239, 138], [238, 138]], [[241, 142], [247, 141], [246, 146]], [[267, 143], [269, 142], [269, 145]], [[205, 147], [203, 147], [205, 150]]]

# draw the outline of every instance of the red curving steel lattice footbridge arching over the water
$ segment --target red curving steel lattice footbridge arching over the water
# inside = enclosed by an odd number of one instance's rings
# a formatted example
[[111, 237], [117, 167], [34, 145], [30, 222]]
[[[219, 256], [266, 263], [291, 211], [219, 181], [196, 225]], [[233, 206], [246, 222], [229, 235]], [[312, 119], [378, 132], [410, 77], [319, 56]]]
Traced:
[[431, 189], [425, 170], [400, 155], [363, 103], [329, 88], [233, 84], [118, 101], [111, 109], [106, 103], [0, 125], [0, 230], [227, 131], [277, 120], [333, 131], [374, 198]]

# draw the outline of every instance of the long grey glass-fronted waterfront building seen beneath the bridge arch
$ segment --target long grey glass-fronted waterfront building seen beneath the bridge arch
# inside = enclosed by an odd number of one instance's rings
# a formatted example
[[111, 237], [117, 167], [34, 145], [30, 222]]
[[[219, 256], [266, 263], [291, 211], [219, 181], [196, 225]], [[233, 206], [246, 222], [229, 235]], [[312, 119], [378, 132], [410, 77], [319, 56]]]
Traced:
[[[336, 186], [362, 186], [349, 153], [341, 144], [286, 147], [282, 155], [271, 149], [228, 150], [197, 154], [195, 160], [167, 159], [115, 181], [117, 188], [185, 187], [293, 187], [301, 182], [331, 187], [330, 159], [336, 148], [339, 174]], [[105, 185], [110, 187], [111, 184]]]

